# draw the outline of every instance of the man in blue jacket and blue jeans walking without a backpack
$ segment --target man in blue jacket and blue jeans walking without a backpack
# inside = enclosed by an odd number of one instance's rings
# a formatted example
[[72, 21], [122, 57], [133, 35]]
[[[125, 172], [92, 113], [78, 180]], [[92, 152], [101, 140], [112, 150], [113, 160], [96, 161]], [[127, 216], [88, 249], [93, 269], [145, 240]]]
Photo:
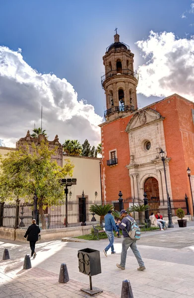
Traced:
[[108, 214], [105, 215], [104, 217], [105, 220], [105, 231], [107, 234], [107, 237], [109, 239], [109, 244], [107, 245], [107, 247], [105, 249], [103, 249], [105, 256], [107, 257], [107, 251], [109, 250], [109, 248], [111, 247], [111, 254], [115, 254], [116, 251], [114, 251], [114, 233], [113, 233], [113, 228], [116, 231], [116, 234], [118, 235], [118, 230], [115, 224], [115, 220], [114, 217], [112, 215], [112, 211], [108, 211]]

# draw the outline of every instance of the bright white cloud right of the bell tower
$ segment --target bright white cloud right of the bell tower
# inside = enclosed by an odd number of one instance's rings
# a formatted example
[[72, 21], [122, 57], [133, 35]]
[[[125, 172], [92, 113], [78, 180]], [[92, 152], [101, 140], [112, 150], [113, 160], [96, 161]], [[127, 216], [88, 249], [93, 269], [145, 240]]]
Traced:
[[137, 92], [145, 96], [178, 93], [194, 100], [194, 37], [176, 38], [172, 32], [150, 32], [147, 40], [137, 41], [146, 59], [139, 66]]

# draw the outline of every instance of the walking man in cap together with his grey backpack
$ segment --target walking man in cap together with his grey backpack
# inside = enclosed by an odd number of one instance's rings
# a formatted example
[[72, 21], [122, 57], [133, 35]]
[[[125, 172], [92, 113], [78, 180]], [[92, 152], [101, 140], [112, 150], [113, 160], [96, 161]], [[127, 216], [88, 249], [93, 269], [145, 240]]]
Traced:
[[122, 229], [124, 239], [122, 242], [121, 264], [117, 264], [117, 267], [125, 270], [127, 251], [130, 247], [139, 264], [139, 268], [137, 268], [137, 270], [143, 271], [145, 270], [145, 266], [136, 246], [136, 240], [140, 239], [140, 229], [133, 218], [128, 215], [126, 210], [121, 211], [121, 216], [123, 219], [121, 222], [118, 221], [118, 224]]

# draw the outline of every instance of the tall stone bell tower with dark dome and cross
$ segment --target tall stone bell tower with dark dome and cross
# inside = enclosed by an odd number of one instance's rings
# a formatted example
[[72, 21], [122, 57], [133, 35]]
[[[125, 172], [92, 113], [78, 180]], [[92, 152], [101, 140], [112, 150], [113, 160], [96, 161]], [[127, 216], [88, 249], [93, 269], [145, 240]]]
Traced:
[[105, 74], [101, 77], [101, 82], [106, 94], [106, 121], [137, 109], [138, 74], [133, 71], [134, 54], [130, 52], [128, 45], [120, 42], [117, 28], [115, 31], [115, 42], [106, 49], [103, 56]]

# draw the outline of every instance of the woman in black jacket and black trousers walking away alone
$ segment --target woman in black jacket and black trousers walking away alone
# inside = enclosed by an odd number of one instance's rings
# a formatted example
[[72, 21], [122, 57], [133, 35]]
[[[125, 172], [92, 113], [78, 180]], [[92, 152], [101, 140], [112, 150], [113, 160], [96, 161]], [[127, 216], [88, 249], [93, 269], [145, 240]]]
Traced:
[[36, 241], [38, 240], [38, 234], [40, 233], [40, 228], [36, 224], [36, 220], [32, 220], [32, 224], [28, 227], [24, 238], [27, 236], [27, 241], [30, 241], [30, 248], [31, 248], [31, 257], [33, 256], [33, 259], [36, 257], [36, 252], [35, 252], [35, 244]]

